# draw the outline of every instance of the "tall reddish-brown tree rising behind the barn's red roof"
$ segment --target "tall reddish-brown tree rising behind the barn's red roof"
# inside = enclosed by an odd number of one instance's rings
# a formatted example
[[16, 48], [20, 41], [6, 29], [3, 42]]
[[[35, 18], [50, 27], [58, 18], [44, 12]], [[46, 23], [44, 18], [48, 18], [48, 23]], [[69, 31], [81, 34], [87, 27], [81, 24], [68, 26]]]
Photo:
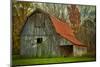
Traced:
[[74, 29], [74, 31], [77, 32], [77, 29], [80, 26], [80, 12], [79, 9], [76, 7], [76, 5], [71, 5], [68, 8], [68, 12], [69, 12], [69, 20], [71, 23], [72, 28]]

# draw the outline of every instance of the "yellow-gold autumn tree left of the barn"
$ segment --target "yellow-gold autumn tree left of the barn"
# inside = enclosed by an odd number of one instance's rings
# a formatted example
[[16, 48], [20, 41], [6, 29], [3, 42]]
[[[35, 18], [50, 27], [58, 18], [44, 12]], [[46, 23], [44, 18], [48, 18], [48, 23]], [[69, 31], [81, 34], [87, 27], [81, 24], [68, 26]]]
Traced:
[[32, 3], [12, 2], [12, 23], [13, 23], [13, 53], [18, 54], [20, 48], [20, 31], [25, 23], [27, 16], [32, 12]]

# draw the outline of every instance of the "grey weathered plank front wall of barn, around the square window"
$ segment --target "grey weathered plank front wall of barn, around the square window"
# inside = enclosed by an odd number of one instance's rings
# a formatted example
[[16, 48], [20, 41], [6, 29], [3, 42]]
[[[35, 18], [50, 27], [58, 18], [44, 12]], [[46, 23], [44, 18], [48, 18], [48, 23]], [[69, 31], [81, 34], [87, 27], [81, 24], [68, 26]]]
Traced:
[[[43, 23], [45, 23], [45, 27], [43, 27]], [[37, 44], [37, 38], [42, 38], [43, 42]], [[21, 55], [34, 57], [61, 56], [58, 45], [55, 30], [48, 16], [35, 14], [29, 17], [21, 35]]]

